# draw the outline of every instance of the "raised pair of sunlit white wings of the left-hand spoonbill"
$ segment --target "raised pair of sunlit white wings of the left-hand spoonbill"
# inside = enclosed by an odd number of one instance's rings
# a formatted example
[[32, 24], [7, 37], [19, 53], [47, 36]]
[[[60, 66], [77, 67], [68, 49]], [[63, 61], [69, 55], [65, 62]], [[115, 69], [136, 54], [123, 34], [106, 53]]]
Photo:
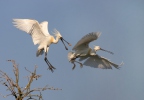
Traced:
[[13, 19], [13, 21], [16, 28], [32, 36], [34, 45], [40, 44], [46, 36], [49, 36], [49, 33], [46, 33], [46, 22], [39, 24], [38, 21], [31, 19]]

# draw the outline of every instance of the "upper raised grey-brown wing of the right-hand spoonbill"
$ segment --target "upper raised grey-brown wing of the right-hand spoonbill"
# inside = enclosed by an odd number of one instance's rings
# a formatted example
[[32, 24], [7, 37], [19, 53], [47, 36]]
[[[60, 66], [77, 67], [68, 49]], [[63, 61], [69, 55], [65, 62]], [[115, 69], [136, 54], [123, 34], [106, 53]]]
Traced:
[[100, 32], [91, 32], [81, 38], [72, 50], [85, 49], [89, 47], [89, 43], [96, 40], [100, 36]]

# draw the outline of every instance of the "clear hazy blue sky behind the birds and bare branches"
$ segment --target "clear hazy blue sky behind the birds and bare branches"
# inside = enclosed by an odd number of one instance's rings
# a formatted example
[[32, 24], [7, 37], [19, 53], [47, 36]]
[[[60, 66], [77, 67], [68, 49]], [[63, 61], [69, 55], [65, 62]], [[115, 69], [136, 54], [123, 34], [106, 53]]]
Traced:
[[[56, 67], [47, 70], [43, 56], [36, 57], [37, 45], [31, 37], [12, 24], [13, 18], [49, 22], [49, 32], [56, 28], [73, 46], [89, 32], [101, 36], [90, 44], [114, 52], [99, 51], [100, 56], [124, 65], [120, 70], [96, 69], [79, 65], [72, 71], [63, 44], [50, 46], [48, 58]], [[53, 34], [52, 34], [53, 35]], [[144, 1], [143, 0], [0, 0], [0, 69], [13, 77], [14, 59], [20, 68], [21, 86], [29, 75], [24, 67], [43, 75], [33, 87], [45, 85], [62, 91], [42, 92], [44, 100], [144, 100]], [[7, 94], [0, 86], [0, 93]], [[3, 100], [14, 100], [10, 97]]]

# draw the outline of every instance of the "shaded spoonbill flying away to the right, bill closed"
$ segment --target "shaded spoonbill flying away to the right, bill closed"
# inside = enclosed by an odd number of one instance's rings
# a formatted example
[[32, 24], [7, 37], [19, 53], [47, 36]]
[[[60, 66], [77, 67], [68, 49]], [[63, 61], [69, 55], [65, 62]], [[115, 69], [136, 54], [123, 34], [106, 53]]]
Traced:
[[[68, 53], [68, 60], [74, 64], [73, 68], [75, 68], [75, 62], [80, 64], [80, 67], [83, 65], [91, 66], [94, 68], [102, 68], [102, 69], [112, 69], [112, 66], [115, 68], [119, 68], [118, 64], [111, 62], [110, 60], [101, 57], [96, 54], [98, 50], [106, 51], [110, 54], [113, 54], [110, 51], [104, 50], [100, 48], [100, 46], [95, 46], [94, 49], [89, 47], [89, 43], [98, 39], [100, 36], [100, 32], [92, 32], [85, 35], [81, 40], [77, 42], [77, 44], [73, 47], [71, 52]], [[76, 61], [79, 58], [79, 61], [85, 60], [82, 64], [81, 62]]]

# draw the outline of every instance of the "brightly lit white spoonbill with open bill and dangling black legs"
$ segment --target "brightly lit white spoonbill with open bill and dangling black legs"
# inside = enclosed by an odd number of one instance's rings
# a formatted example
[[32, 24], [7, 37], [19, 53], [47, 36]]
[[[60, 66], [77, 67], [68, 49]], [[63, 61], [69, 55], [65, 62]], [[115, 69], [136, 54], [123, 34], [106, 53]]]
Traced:
[[[53, 67], [51, 63], [47, 59], [47, 53], [49, 50], [49, 46], [53, 43], [58, 43], [59, 39], [63, 42], [63, 37], [61, 36], [60, 32], [54, 29], [54, 34], [56, 36], [56, 39], [51, 36], [48, 32], [48, 22], [44, 21], [41, 23], [38, 23], [36, 20], [32, 19], [13, 19], [13, 24], [16, 28], [28, 33], [32, 36], [32, 40], [34, 45], [38, 44], [38, 50], [36, 52], [36, 56], [42, 55], [45, 52], [45, 62], [49, 66], [49, 70], [53, 72]], [[66, 43], [68, 43], [66, 40], [64, 40]], [[69, 43], [68, 43], [69, 44]], [[71, 44], [69, 44], [71, 45]], [[65, 44], [64, 44], [65, 46]], [[66, 50], [67, 47], [65, 46]]]

